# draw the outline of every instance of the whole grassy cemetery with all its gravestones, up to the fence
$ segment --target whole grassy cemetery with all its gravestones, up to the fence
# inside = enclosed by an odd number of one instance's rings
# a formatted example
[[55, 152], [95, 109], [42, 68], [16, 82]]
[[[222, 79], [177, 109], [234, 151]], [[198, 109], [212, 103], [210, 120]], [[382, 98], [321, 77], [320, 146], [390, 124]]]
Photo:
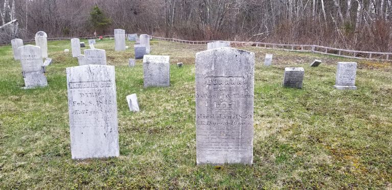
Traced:
[[0, 46], [1, 189], [392, 188], [391, 62], [126, 33]]

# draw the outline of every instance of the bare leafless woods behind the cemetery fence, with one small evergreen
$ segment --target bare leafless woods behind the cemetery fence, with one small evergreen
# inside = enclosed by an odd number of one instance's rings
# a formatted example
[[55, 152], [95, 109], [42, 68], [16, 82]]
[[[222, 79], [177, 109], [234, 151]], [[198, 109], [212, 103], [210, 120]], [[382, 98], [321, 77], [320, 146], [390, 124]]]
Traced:
[[[0, 0], [17, 36], [127, 33], [392, 51], [392, 0]], [[12, 25], [12, 24], [11, 24]], [[14, 26], [0, 29], [9, 41]]]

